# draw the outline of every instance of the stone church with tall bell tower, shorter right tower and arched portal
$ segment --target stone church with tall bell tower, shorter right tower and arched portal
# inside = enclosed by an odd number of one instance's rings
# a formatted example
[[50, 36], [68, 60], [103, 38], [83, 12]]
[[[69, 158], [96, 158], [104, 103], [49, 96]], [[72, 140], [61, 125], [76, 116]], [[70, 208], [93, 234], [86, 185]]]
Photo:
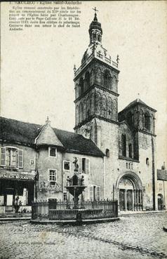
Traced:
[[91, 138], [105, 153], [104, 197], [119, 200], [120, 209], [157, 208], [155, 112], [140, 99], [118, 113], [119, 69], [92, 38], [101, 28], [90, 25], [90, 44], [74, 71], [75, 131]]

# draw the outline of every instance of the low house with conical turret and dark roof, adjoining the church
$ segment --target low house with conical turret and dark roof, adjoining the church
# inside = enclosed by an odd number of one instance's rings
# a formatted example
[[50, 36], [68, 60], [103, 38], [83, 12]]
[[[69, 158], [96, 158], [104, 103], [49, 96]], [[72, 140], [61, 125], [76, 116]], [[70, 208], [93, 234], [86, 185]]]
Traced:
[[52, 128], [48, 119], [44, 126], [6, 118], [0, 123], [0, 213], [14, 212], [16, 197], [29, 211], [34, 200], [73, 199], [66, 186], [75, 159], [86, 186], [83, 199], [104, 199], [105, 154], [92, 140]]

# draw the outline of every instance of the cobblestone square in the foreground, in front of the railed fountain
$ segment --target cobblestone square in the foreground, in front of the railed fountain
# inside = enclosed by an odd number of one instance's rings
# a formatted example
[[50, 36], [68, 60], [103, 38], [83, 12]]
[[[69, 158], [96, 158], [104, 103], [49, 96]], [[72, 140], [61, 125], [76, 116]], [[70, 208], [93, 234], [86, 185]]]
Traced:
[[167, 213], [121, 217], [114, 223], [65, 226], [0, 224], [0, 258], [167, 258]]

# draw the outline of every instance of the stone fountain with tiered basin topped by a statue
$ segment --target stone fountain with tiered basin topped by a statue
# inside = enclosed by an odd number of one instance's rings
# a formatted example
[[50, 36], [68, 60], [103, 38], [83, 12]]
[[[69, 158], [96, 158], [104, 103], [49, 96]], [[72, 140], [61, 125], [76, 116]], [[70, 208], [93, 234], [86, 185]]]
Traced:
[[[74, 208], [79, 208], [79, 195], [83, 193], [85, 186], [83, 184], [84, 182], [84, 176], [79, 173], [79, 165], [77, 164], [78, 160], [75, 157], [75, 160], [73, 162], [75, 168], [74, 168], [74, 175], [72, 178], [67, 177], [67, 186], [66, 189], [69, 191], [70, 194], [74, 197]], [[81, 196], [81, 204], [83, 201], [83, 196]]]

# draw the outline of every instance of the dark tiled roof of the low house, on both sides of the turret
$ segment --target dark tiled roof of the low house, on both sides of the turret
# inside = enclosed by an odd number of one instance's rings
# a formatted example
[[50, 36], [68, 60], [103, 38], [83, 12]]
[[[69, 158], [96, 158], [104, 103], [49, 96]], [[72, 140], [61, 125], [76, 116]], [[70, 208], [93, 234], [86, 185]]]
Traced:
[[[20, 142], [22, 145], [34, 145], [34, 141], [42, 127], [39, 124], [30, 124], [0, 117], [0, 139], [8, 142]], [[62, 131], [57, 128], [53, 128], [53, 131], [69, 152], [79, 152], [98, 157], [104, 156], [92, 140], [83, 138], [80, 134]]]

